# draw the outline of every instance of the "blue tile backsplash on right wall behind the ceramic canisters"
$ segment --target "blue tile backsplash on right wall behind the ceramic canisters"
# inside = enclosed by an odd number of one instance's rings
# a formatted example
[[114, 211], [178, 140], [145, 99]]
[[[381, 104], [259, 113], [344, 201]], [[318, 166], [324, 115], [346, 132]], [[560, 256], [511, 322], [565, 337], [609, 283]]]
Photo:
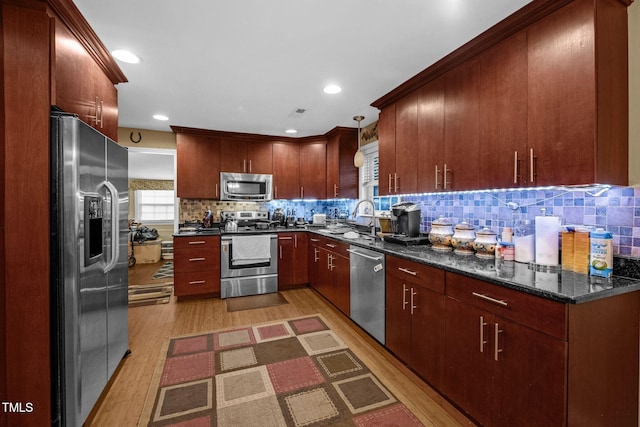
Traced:
[[563, 225], [602, 227], [613, 233], [614, 253], [640, 257], [640, 187], [608, 189], [557, 187], [403, 196], [420, 205], [421, 229], [427, 231], [439, 216], [453, 223], [466, 221], [498, 234], [520, 219], [541, 215], [561, 218]]

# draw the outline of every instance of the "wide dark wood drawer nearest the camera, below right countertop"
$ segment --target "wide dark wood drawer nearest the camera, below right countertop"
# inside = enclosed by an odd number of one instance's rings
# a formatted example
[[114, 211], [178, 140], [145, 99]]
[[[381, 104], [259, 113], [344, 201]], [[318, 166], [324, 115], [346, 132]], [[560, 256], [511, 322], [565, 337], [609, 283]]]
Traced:
[[482, 310], [566, 340], [566, 305], [455, 273], [446, 273], [446, 294]]

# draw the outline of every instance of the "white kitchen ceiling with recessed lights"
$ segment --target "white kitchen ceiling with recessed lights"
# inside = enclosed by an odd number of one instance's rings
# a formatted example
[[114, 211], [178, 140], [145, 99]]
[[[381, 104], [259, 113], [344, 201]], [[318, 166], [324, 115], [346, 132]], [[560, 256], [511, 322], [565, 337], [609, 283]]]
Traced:
[[[119, 63], [121, 127], [296, 136], [370, 104], [529, 0], [74, 0]], [[328, 83], [342, 86], [327, 95]], [[298, 108], [307, 111], [290, 117]], [[152, 118], [161, 113], [168, 122]]]

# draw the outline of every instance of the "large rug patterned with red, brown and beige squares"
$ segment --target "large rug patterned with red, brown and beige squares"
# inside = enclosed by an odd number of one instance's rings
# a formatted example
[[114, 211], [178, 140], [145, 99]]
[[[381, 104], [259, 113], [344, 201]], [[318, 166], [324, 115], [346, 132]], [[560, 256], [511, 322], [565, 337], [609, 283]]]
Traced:
[[139, 425], [422, 426], [319, 315], [167, 339]]

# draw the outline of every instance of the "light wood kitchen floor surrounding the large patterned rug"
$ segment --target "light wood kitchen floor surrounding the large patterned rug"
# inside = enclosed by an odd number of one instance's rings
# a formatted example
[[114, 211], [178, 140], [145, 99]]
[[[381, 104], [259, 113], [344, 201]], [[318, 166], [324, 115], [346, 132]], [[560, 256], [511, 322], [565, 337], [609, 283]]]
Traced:
[[[155, 270], [154, 270], [155, 271]], [[109, 388], [87, 426], [136, 426], [151, 377], [168, 337], [206, 332], [310, 314], [328, 325], [362, 359], [425, 426], [473, 425], [438, 393], [420, 381], [388, 351], [310, 288], [283, 291], [289, 304], [228, 313], [219, 298], [133, 307], [129, 309], [129, 345]]]

